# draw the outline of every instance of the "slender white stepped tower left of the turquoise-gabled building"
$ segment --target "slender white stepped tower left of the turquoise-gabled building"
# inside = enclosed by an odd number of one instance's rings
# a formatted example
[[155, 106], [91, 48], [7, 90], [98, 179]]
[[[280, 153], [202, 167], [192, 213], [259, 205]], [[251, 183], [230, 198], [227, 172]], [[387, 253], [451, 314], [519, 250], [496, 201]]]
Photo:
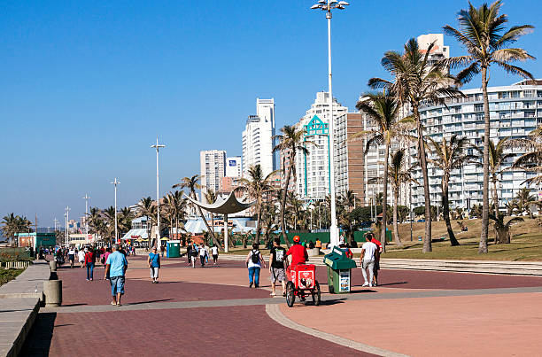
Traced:
[[256, 115], [249, 115], [243, 131], [243, 175], [259, 164], [264, 175], [275, 170], [275, 99], [256, 99]]

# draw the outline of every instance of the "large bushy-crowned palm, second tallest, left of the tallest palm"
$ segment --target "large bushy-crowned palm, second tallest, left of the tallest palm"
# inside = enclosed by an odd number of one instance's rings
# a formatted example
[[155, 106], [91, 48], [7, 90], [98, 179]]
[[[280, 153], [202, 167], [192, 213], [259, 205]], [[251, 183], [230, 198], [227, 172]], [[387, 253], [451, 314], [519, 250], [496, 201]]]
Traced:
[[423, 196], [425, 198], [425, 237], [423, 237], [422, 252], [431, 252], [432, 246], [429, 175], [420, 105], [422, 102], [441, 105], [449, 97], [462, 95], [461, 91], [451, 86], [452, 78], [445, 74], [444, 64], [430, 66], [429, 56], [434, 46], [435, 43], [431, 43], [428, 49], [422, 52], [416, 39], [411, 38], [405, 44], [404, 53], [393, 50], [384, 53], [382, 66], [393, 76], [393, 81], [381, 78], [371, 78], [368, 81], [371, 88], [388, 89], [390, 95], [397, 97], [399, 104], [410, 105], [410, 110], [414, 115], [418, 136], [417, 151], [423, 175]]

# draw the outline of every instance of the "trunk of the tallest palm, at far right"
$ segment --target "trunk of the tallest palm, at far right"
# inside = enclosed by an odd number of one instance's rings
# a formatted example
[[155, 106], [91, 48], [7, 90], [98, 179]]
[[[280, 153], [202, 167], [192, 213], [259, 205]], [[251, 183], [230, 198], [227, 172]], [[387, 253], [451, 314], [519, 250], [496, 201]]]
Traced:
[[487, 252], [487, 236], [489, 228], [489, 141], [490, 141], [490, 114], [487, 97], [487, 67], [482, 66], [482, 93], [484, 96], [484, 187], [482, 198], [482, 232], [480, 233], [479, 253]]

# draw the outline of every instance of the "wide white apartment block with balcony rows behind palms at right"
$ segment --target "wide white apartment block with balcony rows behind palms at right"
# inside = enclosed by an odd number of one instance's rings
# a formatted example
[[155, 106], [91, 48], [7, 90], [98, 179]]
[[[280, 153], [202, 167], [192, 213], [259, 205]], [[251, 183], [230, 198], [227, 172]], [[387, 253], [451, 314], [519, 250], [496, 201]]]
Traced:
[[[497, 143], [504, 137], [520, 138], [527, 136], [532, 130], [542, 124], [542, 81], [537, 80], [538, 86], [527, 85], [526, 81], [517, 82], [511, 86], [488, 88], [491, 132], [490, 139]], [[427, 105], [420, 109], [421, 119], [425, 128], [425, 135], [436, 141], [442, 137], [450, 138], [453, 134], [468, 137], [468, 141], [477, 147], [483, 147], [484, 136], [484, 102], [481, 89], [463, 90], [466, 97], [448, 100], [446, 105]], [[411, 149], [413, 160], [416, 152]], [[515, 157], [507, 159], [505, 167], [510, 167], [515, 158], [523, 154], [514, 150]], [[468, 153], [477, 154], [473, 149]], [[503, 168], [505, 168], [503, 167]], [[504, 171], [500, 177], [497, 188], [499, 206], [503, 209], [507, 200], [515, 198], [517, 192], [525, 185], [523, 182], [531, 177], [520, 169]], [[441, 170], [430, 166], [430, 200], [431, 205], [441, 205]], [[470, 206], [482, 203], [483, 170], [476, 165], [464, 165], [454, 170], [449, 185], [450, 206], [467, 207], [467, 198]], [[422, 182], [422, 172], [417, 170], [415, 178]], [[491, 183], [491, 182], [490, 182]], [[490, 184], [490, 186], [492, 186]], [[492, 190], [492, 187], [490, 187]], [[530, 187], [531, 190], [538, 188]], [[491, 199], [491, 197], [490, 197]], [[413, 206], [423, 206], [422, 186], [413, 186]]]

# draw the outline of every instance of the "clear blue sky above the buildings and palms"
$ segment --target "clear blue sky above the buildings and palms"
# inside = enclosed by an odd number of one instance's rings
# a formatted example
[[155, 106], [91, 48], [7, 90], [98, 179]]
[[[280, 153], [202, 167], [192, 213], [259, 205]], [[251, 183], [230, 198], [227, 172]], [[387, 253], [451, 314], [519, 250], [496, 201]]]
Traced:
[[[467, 1], [359, 1], [332, 23], [334, 95], [354, 108], [385, 50], [457, 26]], [[291, 124], [327, 89], [327, 27], [312, 1], [24, 1], [0, 4], [0, 215], [40, 226], [199, 174], [198, 152], [241, 154], [257, 97], [274, 97], [276, 127]], [[480, 4], [475, 1], [475, 4]], [[519, 45], [541, 58], [539, 1], [505, 1], [510, 24], [537, 27]], [[461, 48], [445, 37], [451, 54]], [[542, 62], [523, 64], [542, 76]], [[492, 85], [518, 81], [492, 71]], [[476, 78], [468, 86], [479, 86]]]

